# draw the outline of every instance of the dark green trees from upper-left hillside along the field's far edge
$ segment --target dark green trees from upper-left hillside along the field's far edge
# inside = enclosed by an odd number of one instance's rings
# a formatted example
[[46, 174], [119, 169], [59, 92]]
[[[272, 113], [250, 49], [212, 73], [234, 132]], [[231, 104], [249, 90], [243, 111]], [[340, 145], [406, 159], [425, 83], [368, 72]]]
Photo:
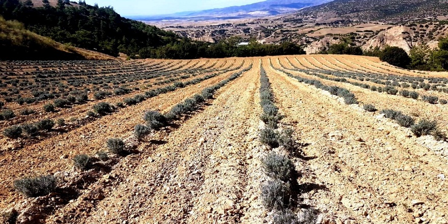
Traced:
[[216, 44], [181, 38], [143, 22], [121, 17], [113, 7], [90, 6], [58, 0], [56, 7], [42, 0], [34, 7], [31, 0], [0, 0], [0, 16], [17, 20], [30, 30], [52, 40], [75, 47], [131, 58], [195, 59], [253, 57], [304, 53], [293, 43], [264, 45], [251, 41], [237, 46], [241, 39], [230, 38]]

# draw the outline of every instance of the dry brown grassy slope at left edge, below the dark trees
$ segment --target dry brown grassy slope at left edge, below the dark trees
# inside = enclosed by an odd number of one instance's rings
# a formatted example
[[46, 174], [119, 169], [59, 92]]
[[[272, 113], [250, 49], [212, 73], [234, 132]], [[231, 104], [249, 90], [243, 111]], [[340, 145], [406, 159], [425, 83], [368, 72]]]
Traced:
[[39, 36], [24, 29], [17, 21], [0, 17], [0, 60], [116, 60], [106, 54], [89, 51]]

